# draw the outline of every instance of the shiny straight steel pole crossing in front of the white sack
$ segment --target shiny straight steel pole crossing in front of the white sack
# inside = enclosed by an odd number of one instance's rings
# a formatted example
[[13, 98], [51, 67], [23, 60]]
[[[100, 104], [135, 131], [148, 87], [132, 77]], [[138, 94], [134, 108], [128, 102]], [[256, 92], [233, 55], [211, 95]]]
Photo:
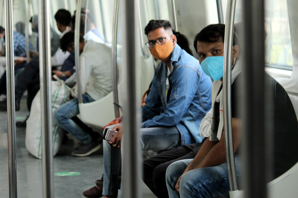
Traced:
[[54, 197], [49, 1], [38, 1], [39, 76], [41, 91], [43, 198]]

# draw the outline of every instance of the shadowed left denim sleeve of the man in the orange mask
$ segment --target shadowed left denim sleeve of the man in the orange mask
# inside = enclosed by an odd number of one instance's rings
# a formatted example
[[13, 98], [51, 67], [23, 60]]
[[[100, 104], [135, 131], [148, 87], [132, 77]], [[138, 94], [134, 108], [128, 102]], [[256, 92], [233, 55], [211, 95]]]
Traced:
[[146, 121], [152, 119], [154, 116], [159, 115], [162, 104], [157, 88], [156, 77], [154, 75], [150, 92], [146, 98], [145, 106], [142, 108], [142, 120]]

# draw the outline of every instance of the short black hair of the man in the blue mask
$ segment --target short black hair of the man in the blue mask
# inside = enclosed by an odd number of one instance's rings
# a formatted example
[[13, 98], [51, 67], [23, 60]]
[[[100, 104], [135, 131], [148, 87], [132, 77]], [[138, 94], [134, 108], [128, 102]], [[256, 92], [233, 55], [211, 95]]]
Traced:
[[[210, 24], [203, 28], [201, 32], [197, 33], [195, 36], [195, 40], [193, 41], [193, 46], [197, 52], [197, 42], [206, 42], [206, 43], [213, 43], [213, 42], [224, 42], [224, 24]], [[237, 34], [234, 32], [233, 35], [233, 46], [238, 45], [238, 37]]]

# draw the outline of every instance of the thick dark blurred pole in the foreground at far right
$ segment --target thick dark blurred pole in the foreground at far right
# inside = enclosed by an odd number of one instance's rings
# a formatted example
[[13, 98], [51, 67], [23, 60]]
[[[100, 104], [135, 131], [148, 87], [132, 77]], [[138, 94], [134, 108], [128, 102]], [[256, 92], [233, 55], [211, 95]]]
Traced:
[[[245, 197], [267, 197], [264, 88], [264, 0], [242, 1], [243, 165]], [[272, 113], [272, 111], [270, 111]], [[271, 154], [271, 153], [270, 153]]]

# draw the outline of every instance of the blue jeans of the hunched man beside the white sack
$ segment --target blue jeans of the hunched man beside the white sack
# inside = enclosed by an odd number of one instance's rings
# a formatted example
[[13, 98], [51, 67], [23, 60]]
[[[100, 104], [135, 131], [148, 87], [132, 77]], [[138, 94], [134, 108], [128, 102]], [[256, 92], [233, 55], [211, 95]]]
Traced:
[[[88, 95], [83, 94], [83, 102], [93, 102], [94, 99]], [[92, 141], [92, 137], [89, 133], [84, 131], [78, 124], [76, 124], [71, 118], [79, 114], [79, 101], [78, 98], [73, 98], [70, 101], [65, 102], [53, 113], [54, 120], [65, 131], [69, 132], [72, 136], [77, 138], [80, 143], [89, 144]]]

